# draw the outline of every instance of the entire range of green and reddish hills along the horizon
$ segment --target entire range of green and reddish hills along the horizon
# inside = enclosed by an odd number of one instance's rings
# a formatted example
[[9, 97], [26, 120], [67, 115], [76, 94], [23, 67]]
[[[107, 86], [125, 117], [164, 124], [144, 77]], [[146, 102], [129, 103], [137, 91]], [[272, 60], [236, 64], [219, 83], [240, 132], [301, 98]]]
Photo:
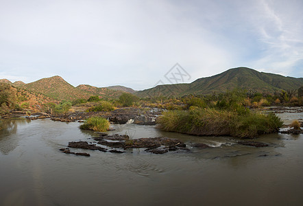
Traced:
[[275, 91], [298, 89], [303, 85], [303, 78], [285, 77], [275, 73], [259, 72], [247, 67], [237, 67], [218, 73], [215, 76], [198, 78], [191, 83], [164, 84], [134, 91], [131, 88], [120, 85], [111, 87], [94, 87], [88, 84], [80, 84], [77, 87], [66, 82], [60, 76], [43, 78], [36, 82], [25, 84], [24, 82], [10, 82], [2, 79], [0, 82], [8, 82], [14, 87], [26, 89], [35, 93], [42, 93], [54, 100], [88, 99], [91, 95], [98, 95], [104, 99], [119, 98], [122, 93], [134, 93], [140, 98], [155, 96], [182, 96], [189, 94], [207, 95], [220, 93], [226, 90], [241, 88], [253, 92], [274, 93]]

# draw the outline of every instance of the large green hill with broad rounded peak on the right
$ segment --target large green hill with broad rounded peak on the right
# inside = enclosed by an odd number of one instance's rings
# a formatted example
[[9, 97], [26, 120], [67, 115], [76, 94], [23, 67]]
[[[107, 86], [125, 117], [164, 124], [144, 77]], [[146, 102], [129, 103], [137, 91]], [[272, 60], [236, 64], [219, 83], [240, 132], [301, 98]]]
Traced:
[[274, 73], [259, 72], [246, 67], [228, 69], [223, 73], [207, 78], [199, 78], [190, 84], [158, 85], [151, 89], [138, 91], [139, 97], [182, 96], [187, 94], [210, 94], [234, 88], [247, 89], [254, 92], [268, 92], [298, 89], [303, 85], [303, 78], [284, 77]]

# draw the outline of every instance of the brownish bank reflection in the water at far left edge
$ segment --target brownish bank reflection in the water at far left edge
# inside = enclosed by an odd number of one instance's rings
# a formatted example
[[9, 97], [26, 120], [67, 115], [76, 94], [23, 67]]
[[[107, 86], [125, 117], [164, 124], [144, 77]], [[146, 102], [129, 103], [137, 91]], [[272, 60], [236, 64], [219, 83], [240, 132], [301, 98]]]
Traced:
[[0, 119], [0, 151], [8, 155], [19, 144], [19, 136], [16, 135], [18, 125], [30, 123], [30, 119]]

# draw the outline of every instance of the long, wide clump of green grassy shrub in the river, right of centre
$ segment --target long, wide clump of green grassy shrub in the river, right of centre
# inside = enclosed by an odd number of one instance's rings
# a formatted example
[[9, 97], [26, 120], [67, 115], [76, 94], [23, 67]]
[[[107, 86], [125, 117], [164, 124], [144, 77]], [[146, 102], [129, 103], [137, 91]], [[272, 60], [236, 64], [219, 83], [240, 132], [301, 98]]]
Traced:
[[230, 135], [252, 138], [274, 133], [282, 126], [274, 114], [263, 115], [191, 106], [189, 111], [166, 111], [158, 123], [163, 130], [190, 135]]

